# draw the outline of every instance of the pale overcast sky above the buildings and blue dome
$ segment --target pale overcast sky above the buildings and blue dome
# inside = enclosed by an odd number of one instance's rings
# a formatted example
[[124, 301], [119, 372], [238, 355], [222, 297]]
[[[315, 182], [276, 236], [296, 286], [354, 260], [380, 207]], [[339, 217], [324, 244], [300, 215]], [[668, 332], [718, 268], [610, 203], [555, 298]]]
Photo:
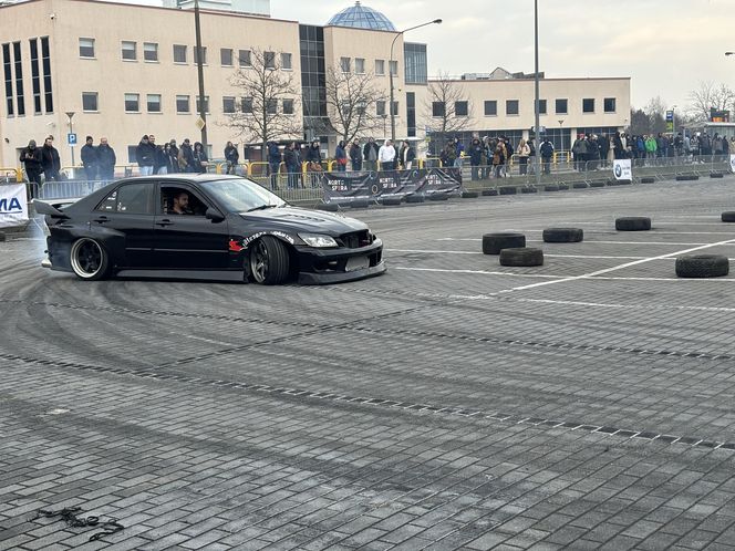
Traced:
[[[156, 0], [128, 0], [159, 3]], [[271, 17], [325, 24], [354, 0], [271, 0]], [[429, 75], [534, 71], [532, 0], [364, 0], [428, 44]], [[630, 76], [631, 102], [683, 108], [701, 82], [735, 89], [735, 0], [539, 0], [540, 70], [549, 77]]]

